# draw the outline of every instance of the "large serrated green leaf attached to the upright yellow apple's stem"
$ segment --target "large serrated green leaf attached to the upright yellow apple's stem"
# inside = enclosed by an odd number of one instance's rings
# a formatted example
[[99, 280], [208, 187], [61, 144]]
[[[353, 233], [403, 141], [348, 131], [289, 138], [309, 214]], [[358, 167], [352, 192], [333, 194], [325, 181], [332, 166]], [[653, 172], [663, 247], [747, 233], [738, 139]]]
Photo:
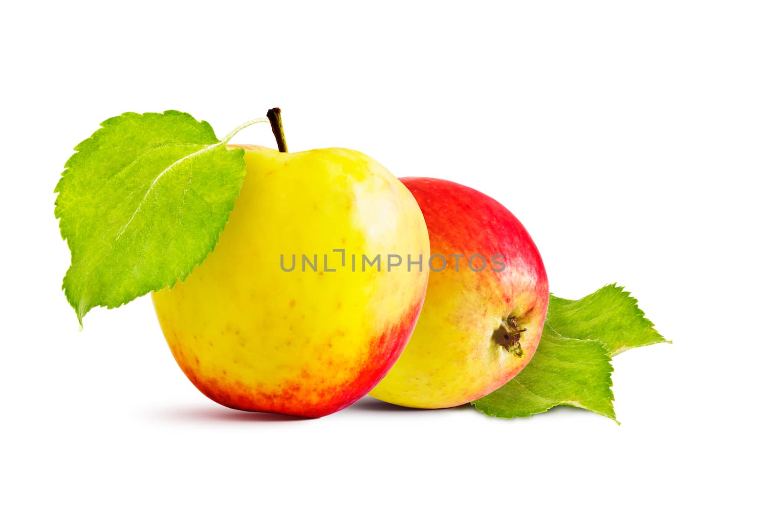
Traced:
[[245, 177], [244, 151], [225, 146], [240, 128], [220, 141], [176, 110], [101, 127], [76, 146], [55, 189], [71, 253], [63, 289], [80, 324], [92, 307], [184, 280], [217, 244]]

